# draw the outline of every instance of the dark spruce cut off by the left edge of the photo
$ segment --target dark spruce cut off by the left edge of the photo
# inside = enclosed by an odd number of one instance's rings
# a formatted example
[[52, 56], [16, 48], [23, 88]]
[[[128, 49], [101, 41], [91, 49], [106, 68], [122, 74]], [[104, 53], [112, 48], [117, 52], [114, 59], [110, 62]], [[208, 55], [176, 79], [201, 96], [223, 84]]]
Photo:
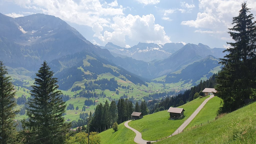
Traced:
[[14, 117], [18, 111], [13, 110], [17, 105], [15, 102], [15, 92], [10, 76], [3, 61], [0, 61], [0, 143], [10, 143], [10, 135], [15, 129]]

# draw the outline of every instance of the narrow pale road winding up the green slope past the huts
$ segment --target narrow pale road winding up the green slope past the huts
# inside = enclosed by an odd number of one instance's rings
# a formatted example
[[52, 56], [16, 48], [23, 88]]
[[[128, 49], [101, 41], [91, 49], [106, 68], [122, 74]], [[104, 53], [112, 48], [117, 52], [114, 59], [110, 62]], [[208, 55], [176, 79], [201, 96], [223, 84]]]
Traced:
[[[182, 132], [182, 130], [196, 117], [196, 115], [198, 114], [198, 112], [205, 106], [205, 104], [207, 103], [207, 101], [208, 101], [209, 99], [213, 98], [213, 97], [214, 97], [214, 95], [211, 95], [209, 98], [205, 99], [205, 100], [202, 102], [202, 104], [193, 112], [193, 114], [192, 114], [187, 120], [185, 120], [185, 121], [183, 122], [183, 124], [182, 124], [176, 131], [174, 131], [174, 133], [173, 133], [172, 135], [168, 136], [168, 138], [171, 137], [171, 136], [173, 136], [173, 135], [177, 135], [178, 133]], [[137, 131], [136, 129], [134, 129], [134, 128], [132, 128], [132, 127], [130, 127], [130, 126], [128, 125], [128, 122], [130, 122], [130, 121], [132, 121], [132, 120], [126, 121], [126, 122], [124, 123], [124, 126], [127, 127], [127, 128], [129, 128], [129, 129], [131, 129], [132, 131], [134, 131], [134, 132], [136, 133], [136, 136], [135, 136], [135, 138], [134, 138], [134, 142], [136, 142], [136, 143], [138, 143], [138, 144], [146, 144], [147, 141], [149, 141], [149, 140], [144, 140], [144, 139], [142, 139], [141, 133], [140, 133], [139, 131]], [[159, 140], [158, 140], [158, 141], [159, 141]], [[156, 141], [151, 141], [151, 142], [156, 142]]]

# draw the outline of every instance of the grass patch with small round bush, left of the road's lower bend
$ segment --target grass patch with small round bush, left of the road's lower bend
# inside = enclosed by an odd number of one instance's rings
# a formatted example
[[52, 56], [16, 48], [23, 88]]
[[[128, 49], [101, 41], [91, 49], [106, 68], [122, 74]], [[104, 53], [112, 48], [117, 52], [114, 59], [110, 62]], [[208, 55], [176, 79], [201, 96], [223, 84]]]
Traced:
[[136, 144], [133, 141], [135, 133], [126, 128], [124, 122], [118, 125], [118, 131], [114, 132], [111, 128], [101, 132], [99, 135], [101, 137], [101, 144]]

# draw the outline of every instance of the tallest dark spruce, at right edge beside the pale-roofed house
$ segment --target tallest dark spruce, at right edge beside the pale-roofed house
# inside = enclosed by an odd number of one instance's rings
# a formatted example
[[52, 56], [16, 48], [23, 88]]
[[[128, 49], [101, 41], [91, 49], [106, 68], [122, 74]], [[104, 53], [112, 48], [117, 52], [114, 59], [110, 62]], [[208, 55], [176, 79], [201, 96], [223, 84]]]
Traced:
[[233, 17], [233, 28], [228, 32], [235, 41], [223, 52], [229, 52], [221, 60], [225, 67], [216, 78], [216, 96], [223, 99], [223, 111], [235, 110], [253, 98], [255, 89], [256, 22], [246, 2], [237, 17]]

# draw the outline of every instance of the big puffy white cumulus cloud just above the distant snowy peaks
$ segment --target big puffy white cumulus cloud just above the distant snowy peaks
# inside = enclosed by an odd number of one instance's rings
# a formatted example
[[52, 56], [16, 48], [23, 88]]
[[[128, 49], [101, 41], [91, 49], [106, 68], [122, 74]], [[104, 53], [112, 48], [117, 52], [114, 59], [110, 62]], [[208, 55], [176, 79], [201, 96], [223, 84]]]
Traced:
[[[99, 23], [93, 24], [94, 37], [98, 37], [103, 43], [113, 42], [119, 46], [125, 47], [128, 37], [132, 42], [146, 43], [169, 43], [170, 37], [166, 35], [164, 27], [155, 24], [154, 15], [138, 16], [127, 15], [113, 17], [113, 23], [110, 24], [113, 30], [109, 32], [102, 31]], [[103, 32], [103, 33], [102, 33]]]

